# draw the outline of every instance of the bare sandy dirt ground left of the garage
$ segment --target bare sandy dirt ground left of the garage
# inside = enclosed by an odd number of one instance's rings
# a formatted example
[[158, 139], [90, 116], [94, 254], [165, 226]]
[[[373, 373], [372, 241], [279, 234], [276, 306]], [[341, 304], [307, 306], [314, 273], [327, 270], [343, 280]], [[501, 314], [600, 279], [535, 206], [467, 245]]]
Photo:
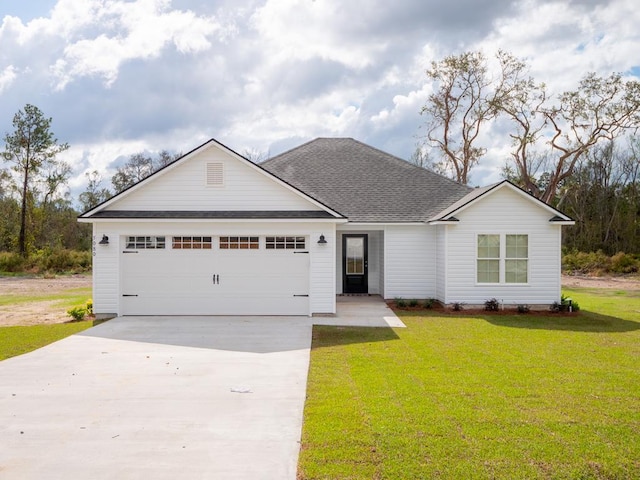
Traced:
[[[91, 287], [91, 276], [72, 275], [57, 278], [0, 277], [2, 296], [58, 295]], [[43, 325], [70, 320], [63, 300], [20, 302], [0, 305], [0, 326]]]

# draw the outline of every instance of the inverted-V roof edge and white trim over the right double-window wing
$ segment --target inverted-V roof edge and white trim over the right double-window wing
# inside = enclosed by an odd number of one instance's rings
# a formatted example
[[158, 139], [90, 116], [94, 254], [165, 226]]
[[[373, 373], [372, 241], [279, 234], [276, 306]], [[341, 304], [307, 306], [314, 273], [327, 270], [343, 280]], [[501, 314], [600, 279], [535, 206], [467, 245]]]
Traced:
[[509, 189], [510, 191], [515, 192], [520, 195], [522, 198], [532, 202], [538, 208], [546, 210], [549, 215], [551, 215], [549, 221], [557, 224], [565, 224], [572, 225], [574, 221], [562, 213], [560, 210], [553, 208], [551, 205], [544, 203], [542, 200], [534, 197], [530, 193], [527, 193], [517, 185], [509, 182], [508, 180], [503, 180], [501, 182], [495, 183], [493, 185], [488, 185], [482, 188], [475, 188], [473, 191], [469, 192], [464, 197], [460, 198], [457, 202], [453, 203], [449, 207], [445, 208], [441, 212], [438, 212], [434, 215], [429, 222], [430, 223], [440, 223], [440, 222], [456, 222], [458, 219], [455, 215], [459, 215], [464, 212], [466, 209], [470, 208], [474, 204], [482, 199], [488, 198], [491, 195], [499, 192], [502, 189]]

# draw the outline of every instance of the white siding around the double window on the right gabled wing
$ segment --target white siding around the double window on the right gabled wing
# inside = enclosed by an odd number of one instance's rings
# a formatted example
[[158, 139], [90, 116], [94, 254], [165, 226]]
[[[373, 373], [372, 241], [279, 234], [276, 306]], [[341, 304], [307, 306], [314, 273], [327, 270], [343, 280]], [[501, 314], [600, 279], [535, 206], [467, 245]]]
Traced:
[[[508, 187], [492, 192], [456, 214], [459, 222], [446, 226], [447, 282], [445, 296], [440, 300], [474, 305], [490, 298], [506, 305], [544, 305], [558, 300], [561, 227], [549, 222], [552, 216], [553, 213]], [[478, 283], [474, 268], [478, 261], [478, 235], [487, 233], [503, 239], [503, 260], [506, 236], [527, 236], [526, 283]], [[524, 268], [523, 264], [518, 267]], [[504, 266], [502, 268], [504, 270]], [[521, 272], [517, 276], [521, 279]]]

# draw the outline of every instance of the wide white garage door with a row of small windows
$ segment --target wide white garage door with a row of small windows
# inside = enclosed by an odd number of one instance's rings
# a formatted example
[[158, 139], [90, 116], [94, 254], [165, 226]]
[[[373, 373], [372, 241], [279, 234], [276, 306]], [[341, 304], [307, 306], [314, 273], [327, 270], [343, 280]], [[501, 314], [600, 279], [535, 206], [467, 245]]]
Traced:
[[126, 242], [124, 315], [309, 314], [304, 237], [128, 237]]

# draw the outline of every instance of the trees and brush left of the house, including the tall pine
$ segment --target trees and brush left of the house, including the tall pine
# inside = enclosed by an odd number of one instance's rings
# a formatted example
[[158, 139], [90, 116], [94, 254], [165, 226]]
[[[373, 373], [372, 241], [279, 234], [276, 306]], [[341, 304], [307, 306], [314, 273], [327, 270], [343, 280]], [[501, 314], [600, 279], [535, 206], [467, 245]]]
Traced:
[[[132, 155], [117, 168], [111, 188], [97, 171], [74, 204], [68, 183], [71, 166], [59, 158], [69, 148], [51, 130], [52, 119], [27, 104], [13, 117], [13, 132], [4, 136], [0, 153], [0, 252], [23, 257], [41, 250], [89, 250], [91, 228], [77, 216], [173, 162], [181, 154], [167, 150], [153, 157]], [[79, 207], [79, 208], [78, 208]]]

